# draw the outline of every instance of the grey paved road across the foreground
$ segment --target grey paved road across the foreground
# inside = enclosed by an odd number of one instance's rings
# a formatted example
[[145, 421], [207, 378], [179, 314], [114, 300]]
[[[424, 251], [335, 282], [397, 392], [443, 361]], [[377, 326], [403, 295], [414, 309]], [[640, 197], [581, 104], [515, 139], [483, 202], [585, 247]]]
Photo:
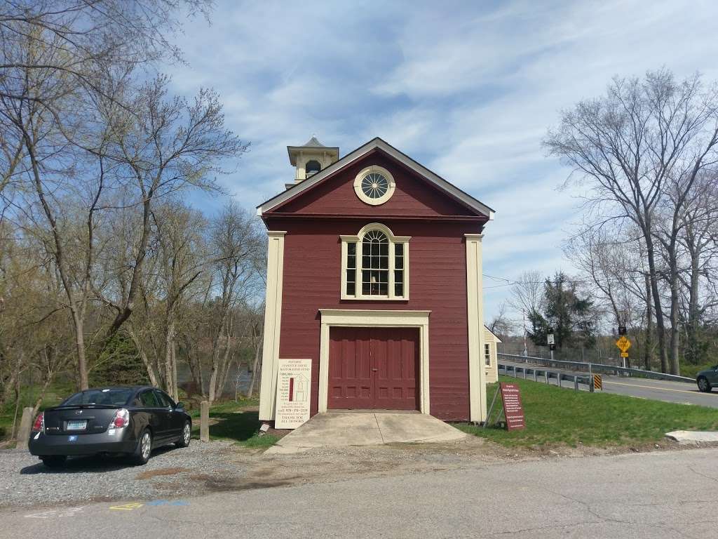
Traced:
[[557, 458], [220, 492], [182, 505], [5, 509], [0, 538], [717, 537], [717, 457], [695, 449]]

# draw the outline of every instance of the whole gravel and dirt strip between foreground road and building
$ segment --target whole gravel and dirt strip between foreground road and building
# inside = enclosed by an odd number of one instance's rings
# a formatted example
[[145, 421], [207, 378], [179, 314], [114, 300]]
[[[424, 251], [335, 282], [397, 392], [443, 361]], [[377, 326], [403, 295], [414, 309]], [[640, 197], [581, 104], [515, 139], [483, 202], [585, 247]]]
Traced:
[[[677, 448], [661, 446], [658, 451]], [[289, 487], [379, 476], [425, 474], [516, 464], [518, 461], [625, 453], [628, 448], [504, 448], [481, 438], [449, 443], [317, 448], [265, 455], [261, 448], [230, 442], [192, 441], [183, 449], [162, 448], [145, 466], [122, 459], [70, 459], [64, 469], [45, 468], [27, 451], [0, 450], [0, 510], [83, 505], [87, 502], [150, 502], [210, 492]], [[630, 451], [656, 451], [632, 448]]]

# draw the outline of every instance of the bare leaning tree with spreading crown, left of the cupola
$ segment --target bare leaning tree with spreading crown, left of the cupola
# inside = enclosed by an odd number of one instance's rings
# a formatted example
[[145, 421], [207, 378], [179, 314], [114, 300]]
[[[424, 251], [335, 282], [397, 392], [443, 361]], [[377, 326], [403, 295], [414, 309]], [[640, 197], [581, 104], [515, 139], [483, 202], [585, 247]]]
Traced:
[[133, 242], [131, 264], [119, 276], [121, 296], [107, 298], [116, 315], [105, 343], [134, 310], [157, 199], [188, 187], [220, 192], [215, 175], [225, 173], [222, 161], [239, 157], [248, 147], [225, 129], [222, 106], [214, 91], [202, 90], [193, 103], [187, 103], [182, 98], [168, 98], [168, 83], [163, 76], [146, 83], [134, 101], [138, 116], [122, 132], [116, 132], [117, 158], [134, 183], [141, 226]]

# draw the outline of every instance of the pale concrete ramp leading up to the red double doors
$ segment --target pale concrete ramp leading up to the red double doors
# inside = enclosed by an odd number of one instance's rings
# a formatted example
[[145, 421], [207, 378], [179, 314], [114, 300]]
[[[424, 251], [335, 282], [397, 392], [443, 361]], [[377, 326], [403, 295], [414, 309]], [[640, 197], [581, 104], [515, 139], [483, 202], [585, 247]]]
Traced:
[[266, 453], [298, 453], [311, 448], [382, 443], [437, 443], [457, 441], [466, 436], [442, 420], [421, 413], [327, 412], [314, 415]]

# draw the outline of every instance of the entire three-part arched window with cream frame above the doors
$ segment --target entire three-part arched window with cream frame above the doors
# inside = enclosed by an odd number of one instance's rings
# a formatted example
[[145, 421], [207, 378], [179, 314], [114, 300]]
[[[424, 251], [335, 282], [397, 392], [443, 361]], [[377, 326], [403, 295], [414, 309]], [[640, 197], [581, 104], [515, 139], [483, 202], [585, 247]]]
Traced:
[[342, 300], [408, 300], [409, 237], [378, 223], [342, 238]]

